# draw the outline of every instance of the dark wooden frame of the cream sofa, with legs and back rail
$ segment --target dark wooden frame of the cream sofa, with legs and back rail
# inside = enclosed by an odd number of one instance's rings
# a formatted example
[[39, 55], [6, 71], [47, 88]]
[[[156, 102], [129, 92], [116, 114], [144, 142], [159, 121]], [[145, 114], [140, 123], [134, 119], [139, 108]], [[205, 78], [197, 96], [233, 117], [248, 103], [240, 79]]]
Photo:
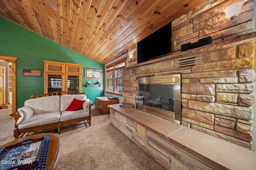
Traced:
[[[49, 93], [49, 94], [42, 94], [42, 95], [37, 95], [37, 96], [34, 96], [34, 95], [31, 95], [30, 96], [30, 99], [33, 99], [33, 98], [40, 98], [40, 97], [47, 97], [47, 96], [54, 96], [54, 95], [58, 95], [58, 96], [61, 96], [61, 95], [64, 95], [64, 94], [84, 94], [85, 95], [85, 92], [84, 93], [76, 93], [76, 92], [53, 92], [53, 93]], [[10, 116], [13, 116], [14, 119], [15, 119], [15, 123], [14, 123], [14, 138], [15, 139], [18, 139], [19, 135], [23, 134], [23, 133], [28, 133], [28, 132], [35, 132], [35, 131], [39, 131], [39, 130], [46, 130], [46, 129], [50, 129], [50, 128], [58, 128], [58, 134], [60, 134], [60, 131], [61, 131], [61, 127], [63, 125], [67, 125], [67, 124], [72, 124], [72, 123], [79, 123], [81, 121], [86, 121], [86, 123], [89, 124], [89, 127], [91, 126], [91, 118], [92, 118], [92, 115], [91, 115], [91, 106], [93, 104], [90, 104], [89, 106], [89, 116], [86, 116], [86, 117], [80, 117], [80, 118], [77, 118], [77, 119], [71, 119], [71, 120], [68, 120], [68, 121], [62, 121], [62, 122], [56, 122], [56, 123], [50, 123], [50, 124], [47, 124], [47, 125], [40, 125], [40, 126], [35, 126], [35, 127], [29, 127], [29, 128], [25, 128], [25, 129], [18, 129], [18, 125], [16, 124], [19, 117], [20, 117], [20, 114], [18, 113], [18, 111], [16, 111], [15, 113], [12, 113], [10, 114]]]

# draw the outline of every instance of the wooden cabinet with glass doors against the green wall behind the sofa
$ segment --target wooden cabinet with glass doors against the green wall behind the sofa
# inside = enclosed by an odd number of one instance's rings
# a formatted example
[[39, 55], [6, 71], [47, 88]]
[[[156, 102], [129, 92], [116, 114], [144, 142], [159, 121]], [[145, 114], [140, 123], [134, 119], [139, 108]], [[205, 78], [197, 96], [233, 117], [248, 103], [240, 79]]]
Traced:
[[82, 92], [82, 65], [44, 61], [44, 94]]

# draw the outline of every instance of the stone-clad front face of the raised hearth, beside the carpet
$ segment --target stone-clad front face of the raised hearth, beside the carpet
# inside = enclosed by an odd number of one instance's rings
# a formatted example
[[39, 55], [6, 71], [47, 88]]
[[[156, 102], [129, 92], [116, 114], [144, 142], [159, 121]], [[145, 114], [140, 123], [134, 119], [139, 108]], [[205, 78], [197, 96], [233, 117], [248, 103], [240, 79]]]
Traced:
[[214, 169], [113, 109], [110, 109], [110, 122], [168, 170]]

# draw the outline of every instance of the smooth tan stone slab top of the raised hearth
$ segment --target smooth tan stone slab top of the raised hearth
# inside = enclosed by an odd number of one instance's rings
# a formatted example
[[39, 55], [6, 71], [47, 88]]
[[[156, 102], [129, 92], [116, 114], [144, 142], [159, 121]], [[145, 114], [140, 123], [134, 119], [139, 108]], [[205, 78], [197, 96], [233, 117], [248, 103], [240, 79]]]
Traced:
[[216, 169], [256, 168], [256, 152], [155, 115], [119, 105], [109, 105], [108, 108], [141, 125], [179, 150], [194, 156], [200, 162], [205, 162]]

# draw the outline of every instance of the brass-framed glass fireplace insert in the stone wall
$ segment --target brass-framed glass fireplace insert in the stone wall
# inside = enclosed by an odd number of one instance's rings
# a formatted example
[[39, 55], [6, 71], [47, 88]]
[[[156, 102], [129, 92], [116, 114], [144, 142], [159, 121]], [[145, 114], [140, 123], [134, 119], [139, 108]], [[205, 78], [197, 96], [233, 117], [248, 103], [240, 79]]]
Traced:
[[136, 78], [136, 109], [180, 124], [180, 74]]

